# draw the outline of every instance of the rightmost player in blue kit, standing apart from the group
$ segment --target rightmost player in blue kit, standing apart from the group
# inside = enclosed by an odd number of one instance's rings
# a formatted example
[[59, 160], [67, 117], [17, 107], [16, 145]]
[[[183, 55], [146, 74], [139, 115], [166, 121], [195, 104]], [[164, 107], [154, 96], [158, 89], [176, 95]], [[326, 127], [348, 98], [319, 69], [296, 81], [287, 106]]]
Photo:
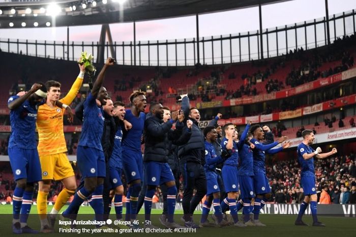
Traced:
[[333, 148], [332, 151], [327, 153], [321, 153], [321, 148], [318, 147], [314, 150], [310, 145], [313, 145], [315, 140], [315, 135], [312, 130], [304, 130], [302, 132], [303, 142], [298, 145], [298, 161], [301, 164], [301, 185], [304, 190], [304, 201], [299, 209], [298, 218], [296, 218], [295, 225], [305, 225], [306, 223], [302, 221], [302, 217], [305, 210], [310, 203], [310, 209], [313, 217], [313, 226], [325, 226], [323, 223], [318, 221], [317, 218], [317, 195], [315, 190], [315, 169], [314, 169], [314, 157], [317, 159], [325, 159], [330, 155], [336, 154], [338, 151]]

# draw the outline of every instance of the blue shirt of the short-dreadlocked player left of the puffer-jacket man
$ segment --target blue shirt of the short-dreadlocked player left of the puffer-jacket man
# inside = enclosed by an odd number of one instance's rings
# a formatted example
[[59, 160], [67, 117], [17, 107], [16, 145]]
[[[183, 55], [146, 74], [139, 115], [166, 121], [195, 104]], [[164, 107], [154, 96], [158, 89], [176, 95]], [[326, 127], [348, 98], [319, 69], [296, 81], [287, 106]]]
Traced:
[[143, 133], [144, 120], [146, 115], [140, 112], [137, 118], [132, 114], [131, 110], [126, 110], [125, 120], [132, 124], [132, 128], [124, 133], [123, 149], [130, 149], [141, 152], [141, 136]]

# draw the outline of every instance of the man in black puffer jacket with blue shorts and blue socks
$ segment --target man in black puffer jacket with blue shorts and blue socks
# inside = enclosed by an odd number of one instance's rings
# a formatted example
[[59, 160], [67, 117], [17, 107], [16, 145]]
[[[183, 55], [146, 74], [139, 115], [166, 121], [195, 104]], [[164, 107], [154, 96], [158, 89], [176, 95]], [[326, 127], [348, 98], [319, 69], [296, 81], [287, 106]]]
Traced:
[[[167, 223], [169, 228], [180, 228], [173, 221], [175, 208], [175, 195], [177, 189], [175, 181], [168, 165], [168, 140], [177, 145], [185, 144], [191, 136], [192, 123], [187, 121], [187, 127], [183, 128], [184, 115], [178, 115], [179, 111], [172, 113], [169, 121], [163, 123], [163, 106], [160, 103], [151, 103], [150, 111], [152, 116], [144, 123], [145, 149], [143, 161], [145, 162], [144, 179], [147, 190], [144, 197], [145, 228], [156, 228], [151, 225], [152, 197], [156, 187], [164, 183], [167, 186]], [[176, 129], [171, 130], [173, 123]]]

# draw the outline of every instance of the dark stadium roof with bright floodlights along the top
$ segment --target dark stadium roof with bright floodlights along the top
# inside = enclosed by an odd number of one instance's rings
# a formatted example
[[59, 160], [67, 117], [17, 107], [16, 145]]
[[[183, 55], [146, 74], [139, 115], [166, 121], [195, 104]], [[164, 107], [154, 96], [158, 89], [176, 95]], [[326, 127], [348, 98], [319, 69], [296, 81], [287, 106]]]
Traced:
[[[290, 0], [127, 0], [123, 5], [118, 4], [117, 0], [116, 2], [107, 0], [107, 4], [104, 4], [102, 0], [56, 1], [61, 10], [57, 12], [55, 25], [56, 27], [63, 27], [67, 25], [162, 19], [285, 1]], [[33, 2], [0, 1], [0, 10], [2, 11], [0, 28], [31, 28], [34, 27], [34, 22], [38, 22], [38, 27], [45, 27], [46, 22], [52, 22], [52, 16], [46, 15], [43, 10], [41, 12], [40, 8], [47, 8], [51, 2], [48, 0]], [[95, 2], [95, 6], [93, 6], [93, 2]], [[83, 3], [86, 3], [84, 9]], [[74, 6], [76, 6], [75, 10], [73, 10]], [[30, 13], [28, 13], [28, 8], [32, 9]], [[12, 26], [9, 25], [10, 22], [13, 22]], [[26, 24], [21, 27], [22, 22], [26, 22]], [[51, 25], [53, 25], [53, 22]]]

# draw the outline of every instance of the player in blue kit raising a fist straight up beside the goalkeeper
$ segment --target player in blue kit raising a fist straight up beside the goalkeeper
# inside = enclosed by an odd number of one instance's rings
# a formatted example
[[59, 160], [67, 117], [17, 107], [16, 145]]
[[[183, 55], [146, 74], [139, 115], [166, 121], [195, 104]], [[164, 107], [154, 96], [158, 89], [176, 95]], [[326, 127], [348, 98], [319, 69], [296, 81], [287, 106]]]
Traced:
[[[92, 195], [92, 207], [96, 214], [96, 220], [103, 220], [103, 182], [106, 176], [105, 157], [101, 145], [104, 117], [102, 106], [108, 98], [107, 91], [102, 88], [106, 70], [113, 65], [114, 59], [108, 58], [93, 85], [91, 93], [84, 102], [84, 118], [82, 133], [77, 149], [77, 164], [84, 178], [84, 187], [74, 195], [74, 199], [65, 212], [64, 217], [75, 219], [80, 205]], [[101, 106], [98, 106], [97, 100]]]

